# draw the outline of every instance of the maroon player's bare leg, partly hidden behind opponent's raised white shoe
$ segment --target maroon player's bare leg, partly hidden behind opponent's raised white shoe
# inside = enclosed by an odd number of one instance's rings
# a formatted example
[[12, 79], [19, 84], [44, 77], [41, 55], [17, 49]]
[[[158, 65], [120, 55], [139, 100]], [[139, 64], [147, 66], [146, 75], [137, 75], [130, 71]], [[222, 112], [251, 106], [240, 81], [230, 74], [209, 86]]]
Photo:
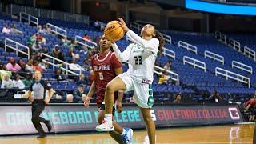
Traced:
[[[98, 113], [98, 124], [102, 124], [102, 121], [104, 120], [105, 117], [105, 110], [100, 110]], [[122, 130], [122, 127], [119, 126], [117, 123], [113, 122], [113, 126], [114, 126], [114, 130], [113, 131], [109, 131], [109, 134], [112, 138], [114, 138], [114, 140], [118, 143], [123, 143], [122, 142], [122, 138], [120, 135], [120, 130]], [[118, 132], [118, 131], [119, 132]], [[122, 132], [121, 132], [122, 133]]]

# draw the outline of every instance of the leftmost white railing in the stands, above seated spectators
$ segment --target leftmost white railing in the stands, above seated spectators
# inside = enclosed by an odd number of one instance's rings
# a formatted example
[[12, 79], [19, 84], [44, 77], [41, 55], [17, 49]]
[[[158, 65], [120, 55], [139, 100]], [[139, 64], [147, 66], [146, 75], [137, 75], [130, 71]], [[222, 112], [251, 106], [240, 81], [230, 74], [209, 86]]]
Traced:
[[[20, 48], [25, 48], [25, 50], [27, 50], [27, 52], [25, 52], [24, 50], [20, 50]], [[5, 51], [7, 50], [7, 48], [15, 50], [16, 54], [18, 55], [19, 53], [25, 54], [27, 56], [27, 59], [30, 59], [30, 48], [28, 46], [22, 45], [21, 43], [15, 42], [9, 38], [5, 39]]]

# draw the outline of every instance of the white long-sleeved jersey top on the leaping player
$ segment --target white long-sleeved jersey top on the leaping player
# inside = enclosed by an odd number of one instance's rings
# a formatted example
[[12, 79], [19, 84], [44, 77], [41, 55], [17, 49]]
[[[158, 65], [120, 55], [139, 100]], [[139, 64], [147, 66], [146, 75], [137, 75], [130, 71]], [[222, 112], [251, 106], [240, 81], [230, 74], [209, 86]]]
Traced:
[[142, 39], [132, 30], [126, 35], [134, 43], [127, 46], [124, 52], [120, 52], [117, 45], [112, 45], [114, 54], [122, 62], [128, 62], [127, 74], [142, 79], [146, 83], [153, 82], [154, 62], [158, 54], [159, 41], [152, 38], [149, 41]]

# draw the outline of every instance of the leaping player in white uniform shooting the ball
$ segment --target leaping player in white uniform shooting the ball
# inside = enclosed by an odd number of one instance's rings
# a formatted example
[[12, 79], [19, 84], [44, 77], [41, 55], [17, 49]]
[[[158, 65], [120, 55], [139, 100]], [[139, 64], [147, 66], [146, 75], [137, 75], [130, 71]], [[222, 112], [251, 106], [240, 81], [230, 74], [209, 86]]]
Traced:
[[[153, 106], [153, 73], [154, 62], [158, 54], [162, 52], [165, 41], [162, 35], [155, 30], [154, 26], [147, 24], [141, 30], [141, 37], [135, 34], [126, 26], [126, 22], [119, 18], [122, 29], [131, 43], [126, 50], [121, 52], [118, 46], [112, 42], [114, 54], [120, 62], [128, 62], [127, 72], [118, 75], [106, 86], [105, 92], [105, 122], [96, 127], [98, 131], [114, 130], [112, 122], [112, 107], [114, 104], [114, 92], [118, 90], [134, 90], [134, 100], [139, 106], [150, 143], [155, 143], [155, 125], [150, 115], [150, 108]], [[121, 135], [126, 135], [127, 142], [131, 143], [133, 131], [123, 129]]]

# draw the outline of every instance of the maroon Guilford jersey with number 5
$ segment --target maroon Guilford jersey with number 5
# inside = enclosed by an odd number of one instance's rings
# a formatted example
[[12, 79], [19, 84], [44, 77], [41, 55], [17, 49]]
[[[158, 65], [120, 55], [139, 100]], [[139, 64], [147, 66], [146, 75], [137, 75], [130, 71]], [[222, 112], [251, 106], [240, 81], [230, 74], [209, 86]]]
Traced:
[[96, 86], [97, 103], [104, 101], [106, 85], [116, 76], [114, 70], [122, 67], [122, 63], [115, 57], [114, 52], [106, 55], [95, 54], [91, 58], [91, 66], [94, 70], [94, 83]]

